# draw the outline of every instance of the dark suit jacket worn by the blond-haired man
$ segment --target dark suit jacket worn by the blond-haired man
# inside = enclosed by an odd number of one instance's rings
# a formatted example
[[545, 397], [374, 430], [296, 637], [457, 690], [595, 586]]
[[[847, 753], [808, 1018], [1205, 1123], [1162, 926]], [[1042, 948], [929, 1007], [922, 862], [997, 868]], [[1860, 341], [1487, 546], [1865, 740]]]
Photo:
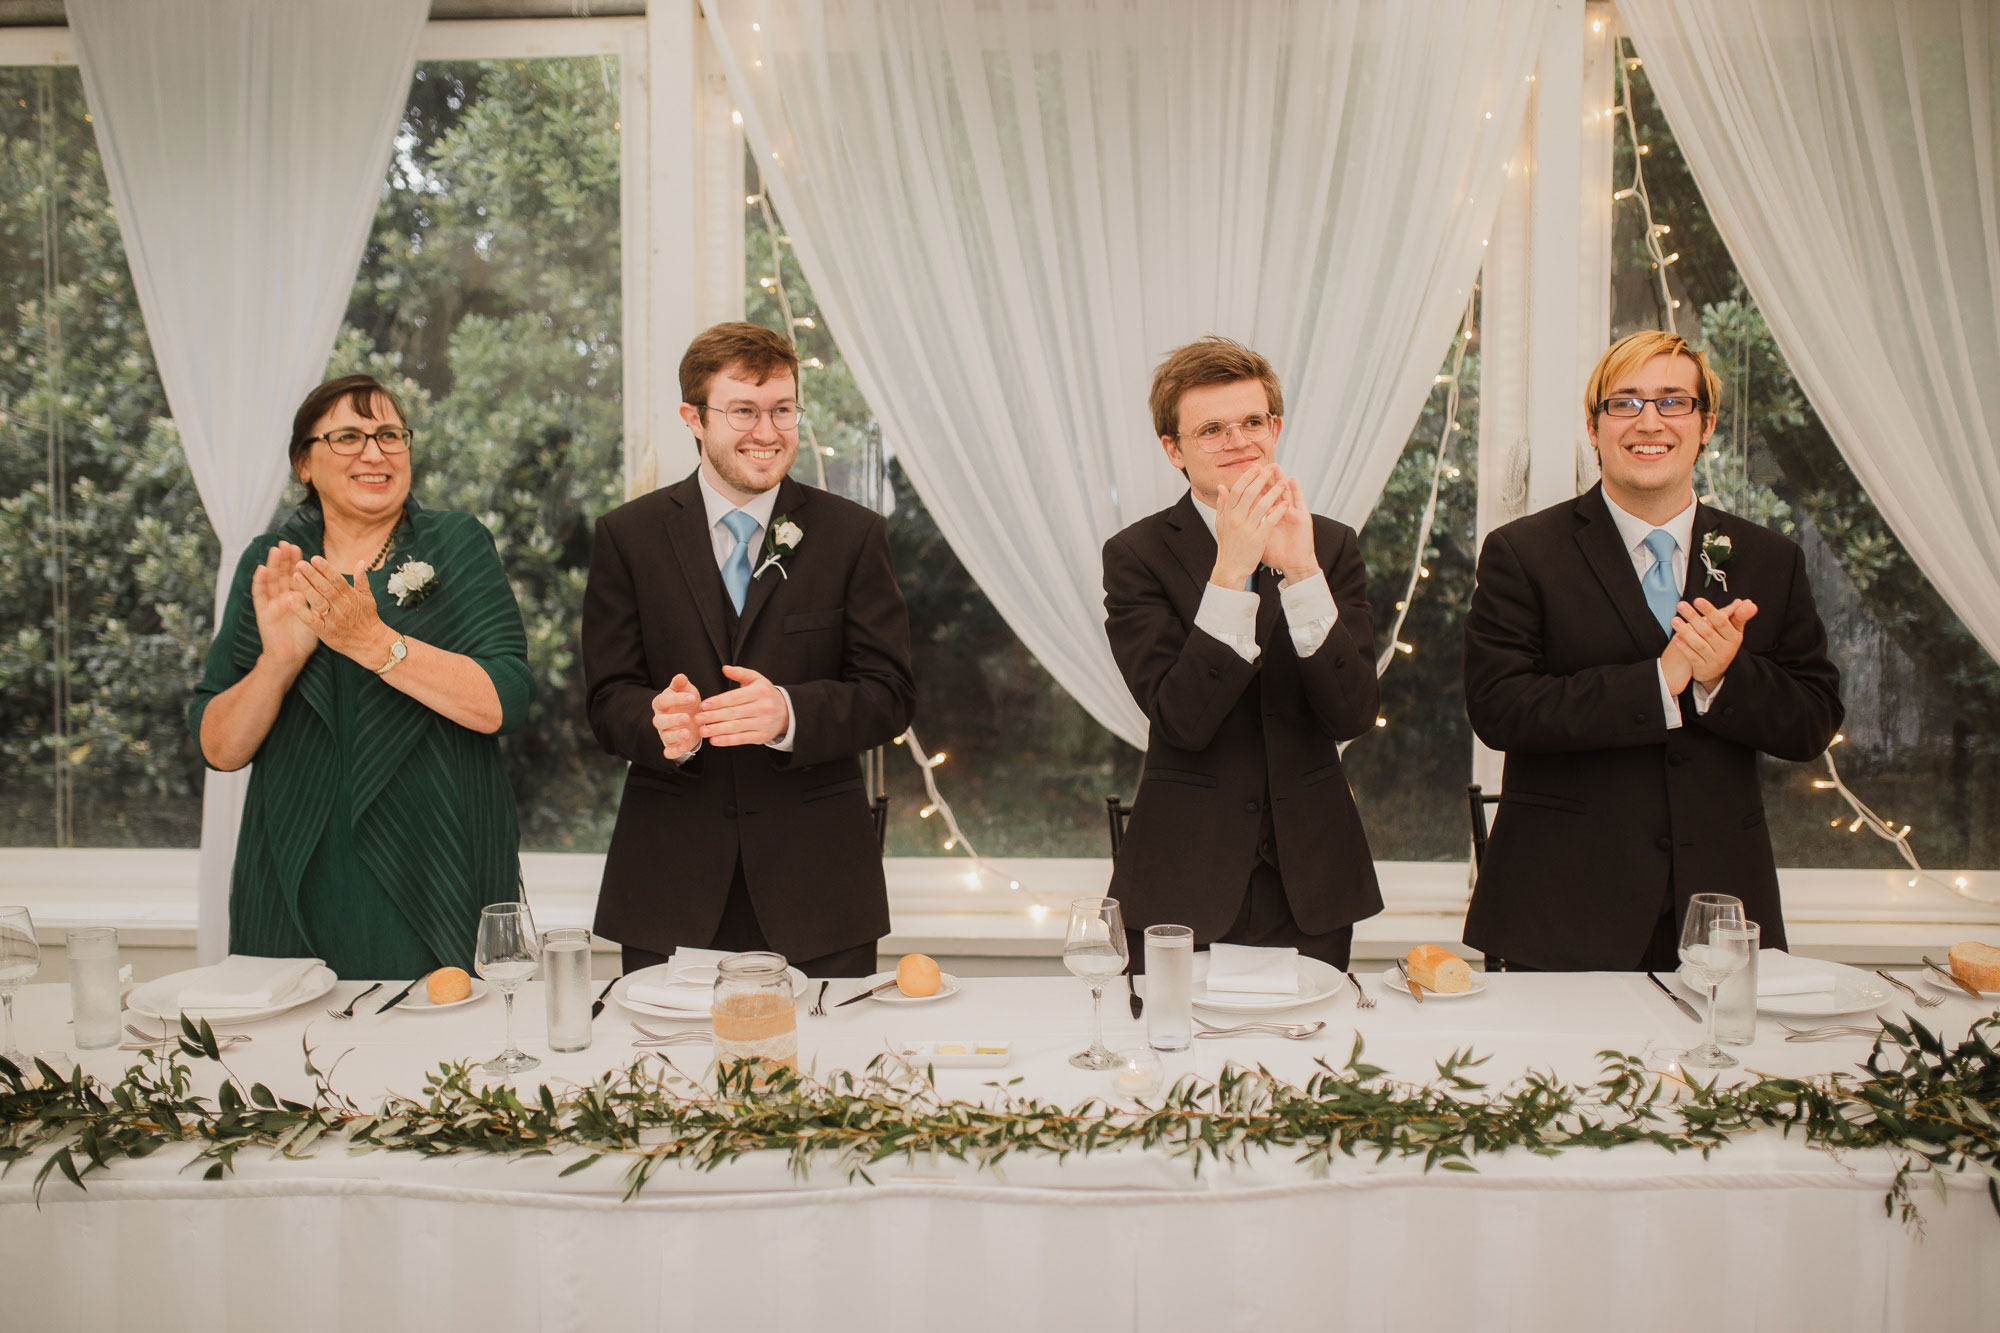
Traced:
[[[1708, 576], [1702, 538], [1734, 554]], [[1706, 715], [1660, 707], [1668, 634], [1640, 590], [1602, 486], [1486, 538], [1466, 614], [1466, 711], [1506, 751], [1506, 781], [1466, 943], [1542, 969], [1630, 969], [1672, 895], [1732, 893], [1784, 947], [1758, 751], [1816, 759], [1844, 715], [1840, 671], [1800, 548], [1754, 522], [1696, 508], [1684, 600], [1758, 612]]]

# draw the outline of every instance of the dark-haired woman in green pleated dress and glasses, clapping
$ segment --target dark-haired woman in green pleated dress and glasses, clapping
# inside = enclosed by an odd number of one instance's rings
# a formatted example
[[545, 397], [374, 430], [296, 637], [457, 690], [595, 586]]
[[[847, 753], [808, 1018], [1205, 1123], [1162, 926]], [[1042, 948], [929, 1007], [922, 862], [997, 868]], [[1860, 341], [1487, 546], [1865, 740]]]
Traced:
[[306, 502], [250, 542], [188, 707], [202, 759], [256, 763], [230, 951], [342, 977], [472, 967], [480, 909], [520, 883], [496, 737], [534, 693], [492, 534], [410, 498], [396, 398], [350, 374], [306, 396]]

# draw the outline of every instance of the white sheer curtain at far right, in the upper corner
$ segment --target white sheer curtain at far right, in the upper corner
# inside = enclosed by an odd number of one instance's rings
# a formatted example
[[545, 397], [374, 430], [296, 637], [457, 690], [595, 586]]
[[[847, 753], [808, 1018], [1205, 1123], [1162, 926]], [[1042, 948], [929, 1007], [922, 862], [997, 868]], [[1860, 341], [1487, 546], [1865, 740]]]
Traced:
[[1618, 12], [1812, 406], [2000, 656], [1992, 0], [1618, 0]]

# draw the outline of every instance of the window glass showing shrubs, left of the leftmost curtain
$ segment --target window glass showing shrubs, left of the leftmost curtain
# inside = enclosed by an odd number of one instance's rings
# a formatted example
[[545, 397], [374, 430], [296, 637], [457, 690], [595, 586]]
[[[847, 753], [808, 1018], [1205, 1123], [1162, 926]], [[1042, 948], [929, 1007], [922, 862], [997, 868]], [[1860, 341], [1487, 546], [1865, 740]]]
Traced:
[[0, 68], [0, 845], [194, 847], [218, 544], [74, 68]]

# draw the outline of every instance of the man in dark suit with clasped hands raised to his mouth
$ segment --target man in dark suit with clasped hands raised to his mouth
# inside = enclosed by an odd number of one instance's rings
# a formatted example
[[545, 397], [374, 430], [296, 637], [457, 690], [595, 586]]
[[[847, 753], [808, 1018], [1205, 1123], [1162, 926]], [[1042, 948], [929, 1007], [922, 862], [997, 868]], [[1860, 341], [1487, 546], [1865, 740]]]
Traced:
[[1360, 542], [1278, 470], [1284, 398], [1250, 348], [1178, 348], [1150, 406], [1188, 494], [1104, 542], [1104, 630], [1152, 725], [1110, 889], [1134, 971], [1166, 923], [1346, 967], [1382, 911], [1340, 771], [1380, 701]]

